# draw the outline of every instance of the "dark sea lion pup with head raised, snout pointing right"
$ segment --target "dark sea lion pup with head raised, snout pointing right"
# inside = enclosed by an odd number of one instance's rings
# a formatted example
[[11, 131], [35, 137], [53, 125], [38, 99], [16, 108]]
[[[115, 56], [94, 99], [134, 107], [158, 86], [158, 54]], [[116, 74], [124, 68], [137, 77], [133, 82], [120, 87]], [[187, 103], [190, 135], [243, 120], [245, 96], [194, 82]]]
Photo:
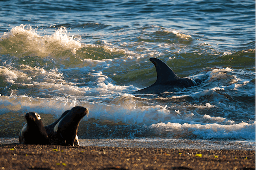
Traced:
[[79, 145], [77, 130], [81, 119], [87, 113], [89, 110], [81, 106], [76, 106], [66, 113], [54, 126], [52, 144]]

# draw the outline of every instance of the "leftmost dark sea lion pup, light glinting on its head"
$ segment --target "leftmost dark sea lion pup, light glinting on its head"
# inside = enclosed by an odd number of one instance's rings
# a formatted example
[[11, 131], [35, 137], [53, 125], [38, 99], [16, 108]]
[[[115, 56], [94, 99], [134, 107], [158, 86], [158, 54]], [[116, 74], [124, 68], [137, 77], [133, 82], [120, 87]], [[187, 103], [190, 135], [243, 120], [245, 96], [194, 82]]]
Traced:
[[38, 113], [26, 113], [27, 123], [19, 133], [19, 141], [22, 144], [49, 144], [48, 134]]

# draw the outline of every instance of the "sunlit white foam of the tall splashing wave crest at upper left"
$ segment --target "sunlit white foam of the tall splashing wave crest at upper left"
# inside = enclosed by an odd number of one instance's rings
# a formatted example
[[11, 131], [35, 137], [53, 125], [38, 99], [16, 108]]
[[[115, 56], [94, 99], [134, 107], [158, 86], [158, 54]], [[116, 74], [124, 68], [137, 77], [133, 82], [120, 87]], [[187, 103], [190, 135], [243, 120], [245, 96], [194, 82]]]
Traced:
[[[22, 55], [31, 53], [40, 57], [47, 57], [56, 51], [70, 51], [76, 54], [76, 50], [80, 49], [82, 44], [81, 38], [68, 36], [67, 29], [60, 27], [53, 35], [38, 35], [36, 29], [33, 29], [29, 25], [23, 25], [13, 27], [11, 31], [5, 32], [0, 40], [10, 40], [9, 45], [17, 49], [15, 55]], [[12, 44], [16, 42], [15, 44]], [[16, 46], [16, 44], [22, 44], [22, 48]], [[2, 49], [2, 53], [13, 53], [13, 49]]]

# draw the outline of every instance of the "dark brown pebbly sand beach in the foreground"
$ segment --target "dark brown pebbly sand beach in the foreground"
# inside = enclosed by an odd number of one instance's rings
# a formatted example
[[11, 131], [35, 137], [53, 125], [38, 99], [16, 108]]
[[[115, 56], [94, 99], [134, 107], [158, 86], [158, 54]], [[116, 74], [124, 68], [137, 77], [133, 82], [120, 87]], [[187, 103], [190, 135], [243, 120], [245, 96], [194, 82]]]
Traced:
[[255, 170], [255, 150], [0, 144], [0, 170]]

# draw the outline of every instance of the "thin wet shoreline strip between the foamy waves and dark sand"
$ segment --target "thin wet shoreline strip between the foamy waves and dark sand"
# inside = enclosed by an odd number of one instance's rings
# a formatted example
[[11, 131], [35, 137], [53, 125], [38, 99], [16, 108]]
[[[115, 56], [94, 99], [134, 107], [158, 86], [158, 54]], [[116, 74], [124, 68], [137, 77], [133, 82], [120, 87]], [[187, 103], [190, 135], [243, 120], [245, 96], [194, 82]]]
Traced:
[[[107, 146], [126, 148], [176, 148], [206, 150], [255, 150], [255, 140], [206, 140], [206, 139], [81, 139], [80, 146]], [[0, 138], [0, 144], [19, 143], [18, 138]]]

